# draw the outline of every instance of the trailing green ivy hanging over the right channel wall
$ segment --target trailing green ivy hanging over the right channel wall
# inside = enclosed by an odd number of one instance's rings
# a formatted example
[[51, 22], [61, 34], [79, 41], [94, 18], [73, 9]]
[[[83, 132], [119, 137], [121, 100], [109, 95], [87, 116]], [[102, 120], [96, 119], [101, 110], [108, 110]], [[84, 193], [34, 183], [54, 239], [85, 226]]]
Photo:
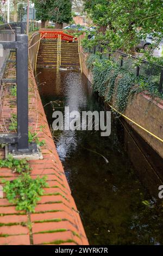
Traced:
[[[114, 104], [121, 113], [126, 109], [129, 97], [136, 93], [148, 92], [152, 96], [163, 96], [158, 92], [158, 84], [154, 80], [136, 77], [129, 70], [120, 68], [120, 63], [114, 63], [106, 57], [91, 54], [86, 64], [92, 71], [93, 91], [104, 97], [106, 102]], [[111, 102], [113, 97], [114, 102]]]

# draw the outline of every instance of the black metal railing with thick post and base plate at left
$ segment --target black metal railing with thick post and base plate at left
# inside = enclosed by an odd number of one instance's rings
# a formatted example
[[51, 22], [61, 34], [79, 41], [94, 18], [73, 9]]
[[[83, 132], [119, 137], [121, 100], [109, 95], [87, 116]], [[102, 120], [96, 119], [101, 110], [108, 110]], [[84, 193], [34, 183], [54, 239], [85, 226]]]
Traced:
[[[19, 31], [24, 32], [25, 27], [22, 26], [22, 23], [20, 28]], [[4, 79], [1, 72], [1, 87], [3, 83], [16, 83], [17, 88], [17, 133], [0, 134], [0, 143], [8, 144], [9, 152], [11, 153], [26, 154], [36, 152], [36, 144], [32, 143], [33, 145], [30, 145], [28, 143], [28, 35], [18, 34], [18, 29], [16, 29], [15, 40], [0, 41], [0, 45], [16, 54], [16, 60], [7, 59], [3, 65], [4, 71], [9, 62], [15, 62], [16, 77], [14, 80]]]

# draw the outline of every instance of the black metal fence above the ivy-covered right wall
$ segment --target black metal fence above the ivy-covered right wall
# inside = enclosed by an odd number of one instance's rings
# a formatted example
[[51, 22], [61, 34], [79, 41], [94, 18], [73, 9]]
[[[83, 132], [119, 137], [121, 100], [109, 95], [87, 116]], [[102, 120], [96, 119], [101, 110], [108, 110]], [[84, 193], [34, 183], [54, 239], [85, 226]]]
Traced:
[[105, 56], [120, 65], [122, 69], [150, 80], [157, 84], [160, 93], [163, 92], [163, 66], [149, 63], [147, 60], [140, 62], [139, 57], [131, 56], [121, 51], [108, 51], [106, 54], [100, 46], [89, 48], [89, 52], [94, 54], [98, 52], [101, 58]]

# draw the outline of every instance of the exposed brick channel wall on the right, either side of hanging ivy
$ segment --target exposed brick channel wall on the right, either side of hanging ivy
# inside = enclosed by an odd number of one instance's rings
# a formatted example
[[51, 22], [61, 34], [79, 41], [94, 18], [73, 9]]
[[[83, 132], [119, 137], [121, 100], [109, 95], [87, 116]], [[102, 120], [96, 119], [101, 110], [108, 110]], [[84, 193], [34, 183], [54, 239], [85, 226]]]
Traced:
[[[85, 76], [92, 83], [92, 72], [87, 69], [86, 59], [88, 54], [80, 46], [80, 56], [82, 59], [82, 68]], [[114, 102], [112, 102], [114, 105]], [[144, 127], [147, 131], [153, 133], [163, 140], [163, 101], [152, 99], [144, 93], [136, 94], [132, 101], [129, 101], [126, 111], [124, 112], [129, 119]], [[148, 132], [127, 120], [127, 123], [145, 139], [145, 141], [163, 158], [163, 143]]]

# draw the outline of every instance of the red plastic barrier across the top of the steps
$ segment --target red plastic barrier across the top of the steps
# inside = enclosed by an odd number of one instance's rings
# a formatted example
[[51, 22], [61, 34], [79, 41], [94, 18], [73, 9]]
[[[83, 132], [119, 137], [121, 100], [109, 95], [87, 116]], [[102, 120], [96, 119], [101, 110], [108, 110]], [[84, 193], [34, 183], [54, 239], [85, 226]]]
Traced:
[[41, 37], [43, 38], [58, 38], [61, 35], [61, 40], [72, 42], [74, 37], [72, 35], [67, 35], [62, 31], [40, 31]]

